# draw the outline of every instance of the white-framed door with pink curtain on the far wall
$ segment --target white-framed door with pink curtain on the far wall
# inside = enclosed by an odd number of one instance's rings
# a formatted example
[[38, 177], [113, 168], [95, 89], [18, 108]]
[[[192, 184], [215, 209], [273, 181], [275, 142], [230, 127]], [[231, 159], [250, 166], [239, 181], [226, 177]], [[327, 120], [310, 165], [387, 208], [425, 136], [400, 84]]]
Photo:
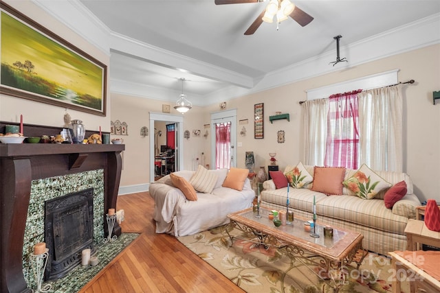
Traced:
[[[228, 128], [228, 137], [220, 139]], [[211, 133], [212, 169], [236, 167], [236, 109], [211, 113]]]

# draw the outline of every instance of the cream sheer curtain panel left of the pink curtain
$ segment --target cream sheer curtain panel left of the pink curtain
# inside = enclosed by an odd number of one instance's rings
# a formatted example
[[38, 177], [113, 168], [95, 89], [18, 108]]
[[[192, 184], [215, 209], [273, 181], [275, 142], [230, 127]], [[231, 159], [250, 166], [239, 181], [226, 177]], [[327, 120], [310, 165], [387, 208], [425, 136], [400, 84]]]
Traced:
[[303, 103], [306, 165], [324, 165], [328, 112], [329, 99], [312, 99]]

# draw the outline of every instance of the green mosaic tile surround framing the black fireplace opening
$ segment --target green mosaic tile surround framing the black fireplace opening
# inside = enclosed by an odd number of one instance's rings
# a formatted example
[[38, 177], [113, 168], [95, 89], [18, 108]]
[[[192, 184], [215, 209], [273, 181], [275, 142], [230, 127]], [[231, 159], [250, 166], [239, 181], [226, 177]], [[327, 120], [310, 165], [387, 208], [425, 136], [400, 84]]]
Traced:
[[104, 239], [103, 169], [32, 180], [23, 242], [23, 274], [30, 288], [34, 288], [35, 284], [30, 267], [30, 253], [36, 243], [44, 242], [45, 201], [87, 188], [94, 189], [94, 244], [98, 245]]

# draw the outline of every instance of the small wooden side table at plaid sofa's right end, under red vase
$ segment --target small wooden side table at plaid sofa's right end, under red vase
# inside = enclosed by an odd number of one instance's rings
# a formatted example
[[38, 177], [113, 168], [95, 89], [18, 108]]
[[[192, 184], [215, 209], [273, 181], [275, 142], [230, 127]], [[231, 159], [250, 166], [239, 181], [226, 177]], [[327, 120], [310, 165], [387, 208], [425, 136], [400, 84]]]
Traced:
[[440, 232], [430, 231], [425, 222], [410, 219], [405, 228], [406, 250], [417, 250], [417, 244], [428, 244], [430, 246], [440, 246]]

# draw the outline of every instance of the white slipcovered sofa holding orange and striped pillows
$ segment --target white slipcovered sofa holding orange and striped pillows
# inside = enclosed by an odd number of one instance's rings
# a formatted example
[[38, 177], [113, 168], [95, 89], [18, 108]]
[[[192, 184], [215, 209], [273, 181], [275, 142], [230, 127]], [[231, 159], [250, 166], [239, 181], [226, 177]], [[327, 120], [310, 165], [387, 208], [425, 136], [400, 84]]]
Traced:
[[[228, 224], [228, 214], [252, 207], [255, 192], [250, 180], [245, 178], [241, 191], [222, 187], [228, 169], [208, 170], [217, 176], [214, 189], [208, 193], [197, 192], [197, 200], [188, 200], [175, 187], [170, 175], [151, 183], [149, 193], [155, 200], [153, 219], [156, 233], [169, 233], [175, 237], [192, 235], [210, 228]], [[195, 171], [178, 171], [173, 174], [188, 182]]]

